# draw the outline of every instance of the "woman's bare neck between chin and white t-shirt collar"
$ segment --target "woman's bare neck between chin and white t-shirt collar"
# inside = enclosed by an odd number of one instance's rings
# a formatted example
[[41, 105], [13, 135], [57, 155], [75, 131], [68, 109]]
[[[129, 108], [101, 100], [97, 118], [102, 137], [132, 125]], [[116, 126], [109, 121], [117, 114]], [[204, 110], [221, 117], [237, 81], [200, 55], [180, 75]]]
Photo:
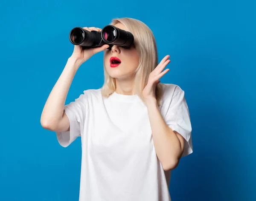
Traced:
[[116, 93], [122, 95], [135, 95], [134, 78], [118, 79], [116, 78]]

